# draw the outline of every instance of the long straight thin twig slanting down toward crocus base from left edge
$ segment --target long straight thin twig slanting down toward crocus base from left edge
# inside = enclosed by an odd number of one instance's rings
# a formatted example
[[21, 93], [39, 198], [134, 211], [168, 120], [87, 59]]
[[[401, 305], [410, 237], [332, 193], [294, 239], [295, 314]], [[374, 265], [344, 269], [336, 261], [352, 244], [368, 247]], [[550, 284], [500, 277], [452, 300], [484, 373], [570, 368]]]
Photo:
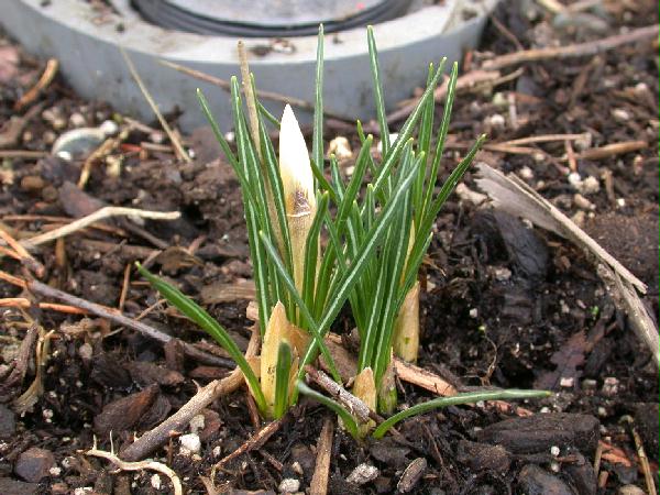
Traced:
[[[76, 306], [78, 308], [82, 308], [82, 309], [91, 312], [92, 315], [99, 316], [101, 318], [106, 318], [110, 321], [113, 321], [117, 324], [121, 324], [122, 327], [127, 327], [132, 330], [136, 330], [140, 333], [142, 333], [143, 336], [146, 336], [150, 339], [154, 339], [155, 341], [161, 342], [162, 344], [166, 344], [167, 342], [169, 342], [173, 339], [179, 340], [179, 339], [176, 339], [175, 337], [168, 336], [167, 333], [163, 333], [161, 330], [150, 327], [146, 323], [143, 323], [141, 321], [135, 321], [134, 319], [125, 317], [124, 315], [122, 315], [114, 308], [108, 308], [106, 306], [97, 305], [96, 302], [91, 302], [86, 299], [81, 299], [79, 297], [67, 294], [63, 290], [58, 290], [54, 287], [51, 287], [50, 285], [42, 284], [38, 280], [28, 282], [26, 288], [34, 294], [38, 294], [40, 296], [62, 300], [70, 306]], [[191, 359], [197, 360], [202, 363], [215, 364], [215, 365], [219, 365], [219, 366], [227, 367], [227, 366], [233, 365], [233, 362], [231, 362], [227, 359], [208, 354], [204, 351], [200, 351], [195, 345], [189, 344], [187, 342], [184, 342], [184, 341], [180, 341], [180, 342], [184, 348], [184, 353], [188, 358], [191, 358]]]

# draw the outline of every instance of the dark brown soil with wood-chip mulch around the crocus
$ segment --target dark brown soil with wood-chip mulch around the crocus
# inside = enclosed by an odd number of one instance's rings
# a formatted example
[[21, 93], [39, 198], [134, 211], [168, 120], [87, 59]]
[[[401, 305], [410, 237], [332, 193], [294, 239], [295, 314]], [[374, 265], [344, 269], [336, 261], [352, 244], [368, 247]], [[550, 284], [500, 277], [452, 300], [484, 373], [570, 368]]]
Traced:
[[[516, 51], [514, 38], [526, 48], [570, 44], [657, 23], [660, 18], [657, 2], [645, 0], [605, 2], [603, 9], [604, 16], [592, 12], [553, 24], [536, 2], [505, 2], [496, 16], [507, 32], [488, 23], [472, 64], [480, 53]], [[645, 300], [656, 318], [660, 312], [658, 50], [654, 40], [594, 57], [528, 64], [513, 81], [459, 95], [450, 128], [454, 146], [446, 152], [442, 169], [448, 175], [461, 157], [454, 150], [482, 132], [492, 142], [588, 133], [591, 143], [583, 147], [646, 141], [648, 146], [637, 152], [579, 158], [581, 177], [592, 176], [600, 184], [583, 198], [575, 198], [564, 173], [563, 141], [531, 144], [539, 153], [484, 151], [477, 160], [518, 174], [581, 223], [648, 284]], [[80, 100], [62, 76], [16, 112], [15, 101], [43, 67], [43, 61], [0, 37], [0, 143], [8, 138], [12, 118], [42, 106], [15, 142], [0, 151], [50, 151], [66, 130], [118, 117], [109, 103]], [[515, 98], [517, 125], [512, 122], [509, 95]], [[121, 123], [122, 129], [125, 125]], [[333, 132], [330, 127], [327, 136], [333, 138]], [[348, 138], [356, 141], [355, 135]], [[176, 161], [168, 146], [154, 151], [157, 146], [148, 144], [162, 139], [160, 131], [133, 128], [112, 153], [123, 160], [121, 174], [112, 176], [107, 165], [97, 164], [85, 194], [73, 186], [82, 160], [72, 164], [54, 156], [4, 158], [0, 227], [21, 239], [52, 229], [62, 222], [57, 217], [84, 216], [101, 204], [179, 210], [183, 217], [177, 221], [144, 226], [109, 221], [103, 230], [86, 229], [44, 246], [36, 253], [46, 266], [43, 282], [118, 307], [127, 266], [161, 251], [152, 256], [153, 270], [201, 301], [244, 346], [251, 324], [245, 317], [251, 265], [238, 182], [208, 129], [185, 140], [195, 151], [191, 164]], [[576, 154], [580, 146], [573, 143]], [[605, 179], [608, 174], [610, 182]], [[476, 190], [470, 174], [465, 184]], [[584, 198], [591, 207], [585, 207]], [[0, 257], [0, 265], [6, 273], [26, 276], [7, 256]], [[529, 417], [484, 405], [450, 407], [405, 421], [400, 436], [363, 444], [338, 428], [329, 493], [595, 494], [618, 493], [629, 484], [646, 490], [630, 428], [622, 421], [626, 415], [636, 418], [656, 483], [660, 482], [658, 370], [583, 252], [454, 195], [438, 218], [424, 270], [428, 283], [421, 306], [420, 366], [462, 391], [492, 385], [548, 388], [554, 395], [522, 404], [532, 413]], [[156, 304], [156, 294], [134, 271], [128, 273], [122, 299], [128, 316], [150, 308], [144, 321], [153, 327], [188, 342], [208, 341], [172, 308]], [[1, 280], [0, 297], [40, 300]], [[0, 376], [6, 381], [0, 384], [0, 493], [92, 493], [76, 491], [82, 487], [98, 494], [169, 492], [163, 475], [158, 485], [152, 471], [117, 473], [107, 461], [82, 452], [91, 448], [95, 436], [99, 448], [110, 450], [110, 435], [119, 451], [132, 441], [133, 432], [153, 428], [183, 406], [197, 384], [223, 377], [230, 370], [180, 360], [176, 352], [166, 355], [158, 343], [95, 317], [35, 306], [23, 312], [0, 310]], [[13, 400], [35, 377], [30, 352], [24, 377], [8, 378], [21, 343], [36, 331], [29, 329], [29, 320], [54, 333], [43, 393], [26, 413], [16, 415]], [[341, 323], [337, 330], [349, 327], [348, 319]], [[205, 349], [212, 348], [209, 343]], [[400, 407], [428, 398], [430, 394], [400, 384]], [[202, 477], [211, 476], [211, 466], [257, 430], [249, 419], [244, 391], [217, 400], [204, 417], [199, 455], [180, 449], [176, 437], [189, 431], [173, 433], [169, 444], [154, 454], [176, 471], [187, 493], [207, 493]], [[277, 492], [286, 479], [298, 480], [301, 492], [308, 490], [316, 444], [328, 417], [327, 409], [302, 400], [263, 447], [215, 473], [218, 493]], [[596, 450], [602, 453], [600, 473], [593, 470]], [[377, 468], [377, 476], [362, 485], [348, 481], [361, 464]]]

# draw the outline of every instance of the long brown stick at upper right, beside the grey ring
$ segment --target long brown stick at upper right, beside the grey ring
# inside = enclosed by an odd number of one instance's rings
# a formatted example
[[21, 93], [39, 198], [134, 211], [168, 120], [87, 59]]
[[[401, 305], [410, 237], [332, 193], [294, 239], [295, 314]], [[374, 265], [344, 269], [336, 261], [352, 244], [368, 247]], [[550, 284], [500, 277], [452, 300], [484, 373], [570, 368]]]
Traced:
[[622, 45], [635, 43], [639, 41], [650, 40], [660, 34], [660, 24], [653, 24], [646, 28], [639, 28], [627, 33], [617, 34], [614, 36], [603, 37], [586, 43], [578, 43], [574, 45], [524, 50], [521, 52], [501, 55], [484, 62], [483, 68], [487, 70], [497, 70], [513, 65], [522, 64], [525, 62], [540, 62], [553, 58], [573, 58], [590, 55], [596, 55], [602, 52], [617, 48]]

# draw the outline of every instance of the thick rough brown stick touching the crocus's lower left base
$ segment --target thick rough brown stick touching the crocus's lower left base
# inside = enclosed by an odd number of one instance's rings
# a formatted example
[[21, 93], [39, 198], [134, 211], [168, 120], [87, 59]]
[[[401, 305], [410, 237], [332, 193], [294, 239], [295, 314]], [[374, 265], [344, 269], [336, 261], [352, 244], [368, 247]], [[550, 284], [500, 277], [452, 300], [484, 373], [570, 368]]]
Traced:
[[[258, 351], [260, 334], [255, 328], [252, 331], [245, 356], [256, 355]], [[133, 443], [122, 450], [121, 457], [129, 461], [136, 461], [154, 452], [164, 446], [169, 439], [172, 431], [183, 430], [190, 420], [205, 407], [223, 395], [230, 394], [244, 383], [243, 373], [234, 369], [222, 380], [215, 380], [207, 386], [200, 388], [179, 410], [163, 421], [154, 429], [147, 431]]]

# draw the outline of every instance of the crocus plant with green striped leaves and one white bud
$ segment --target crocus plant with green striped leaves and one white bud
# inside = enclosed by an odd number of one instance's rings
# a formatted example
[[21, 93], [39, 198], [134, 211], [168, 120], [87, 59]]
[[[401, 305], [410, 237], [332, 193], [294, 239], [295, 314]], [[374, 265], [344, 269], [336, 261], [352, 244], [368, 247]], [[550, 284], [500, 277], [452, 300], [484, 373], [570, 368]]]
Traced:
[[[546, 395], [536, 391], [494, 391], [439, 398], [391, 416], [375, 429], [359, 424], [331, 398], [307, 386], [305, 366], [319, 353], [332, 378], [341, 384], [324, 337], [345, 302], [350, 304], [360, 334], [358, 375], [353, 394], [372, 410], [389, 415], [397, 406], [393, 352], [415, 361], [419, 346], [419, 283], [421, 260], [432, 238], [438, 211], [468, 169], [484, 136], [436, 190], [458, 68], [448, 81], [443, 118], [433, 129], [435, 89], [444, 61], [430, 66], [428, 84], [391, 142], [383, 102], [376, 45], [367, 30], [382, 152], [373, 152], [373, 136], [358, 122], [361, 150], [346, 182], [338, 161], [323, 157], [323, 36], [319, 30], [317, 85], [311, 157], [294, 112], [286, 106], [278, 121], [245, 91], [244, 111], [239, 81], [231, 79], [237, 151], [232, 151], [198, 91], [220, 147], [241, 185], [250, 255], [258, 306], [262, 351], [245, 359], [228, 332], [177, 288], [140, 272], [184, 315], [202, 327], [234, 359], [255, 403], [266, 418], [279, 418], [302, 393], [327, 405], [355, 437], [373, 430], [382, 437], [400, 419], [451, 404]], [[279, 128], [279, 150], [270, 138]], [[371, 177], [366, 182], [366, 177]]]

